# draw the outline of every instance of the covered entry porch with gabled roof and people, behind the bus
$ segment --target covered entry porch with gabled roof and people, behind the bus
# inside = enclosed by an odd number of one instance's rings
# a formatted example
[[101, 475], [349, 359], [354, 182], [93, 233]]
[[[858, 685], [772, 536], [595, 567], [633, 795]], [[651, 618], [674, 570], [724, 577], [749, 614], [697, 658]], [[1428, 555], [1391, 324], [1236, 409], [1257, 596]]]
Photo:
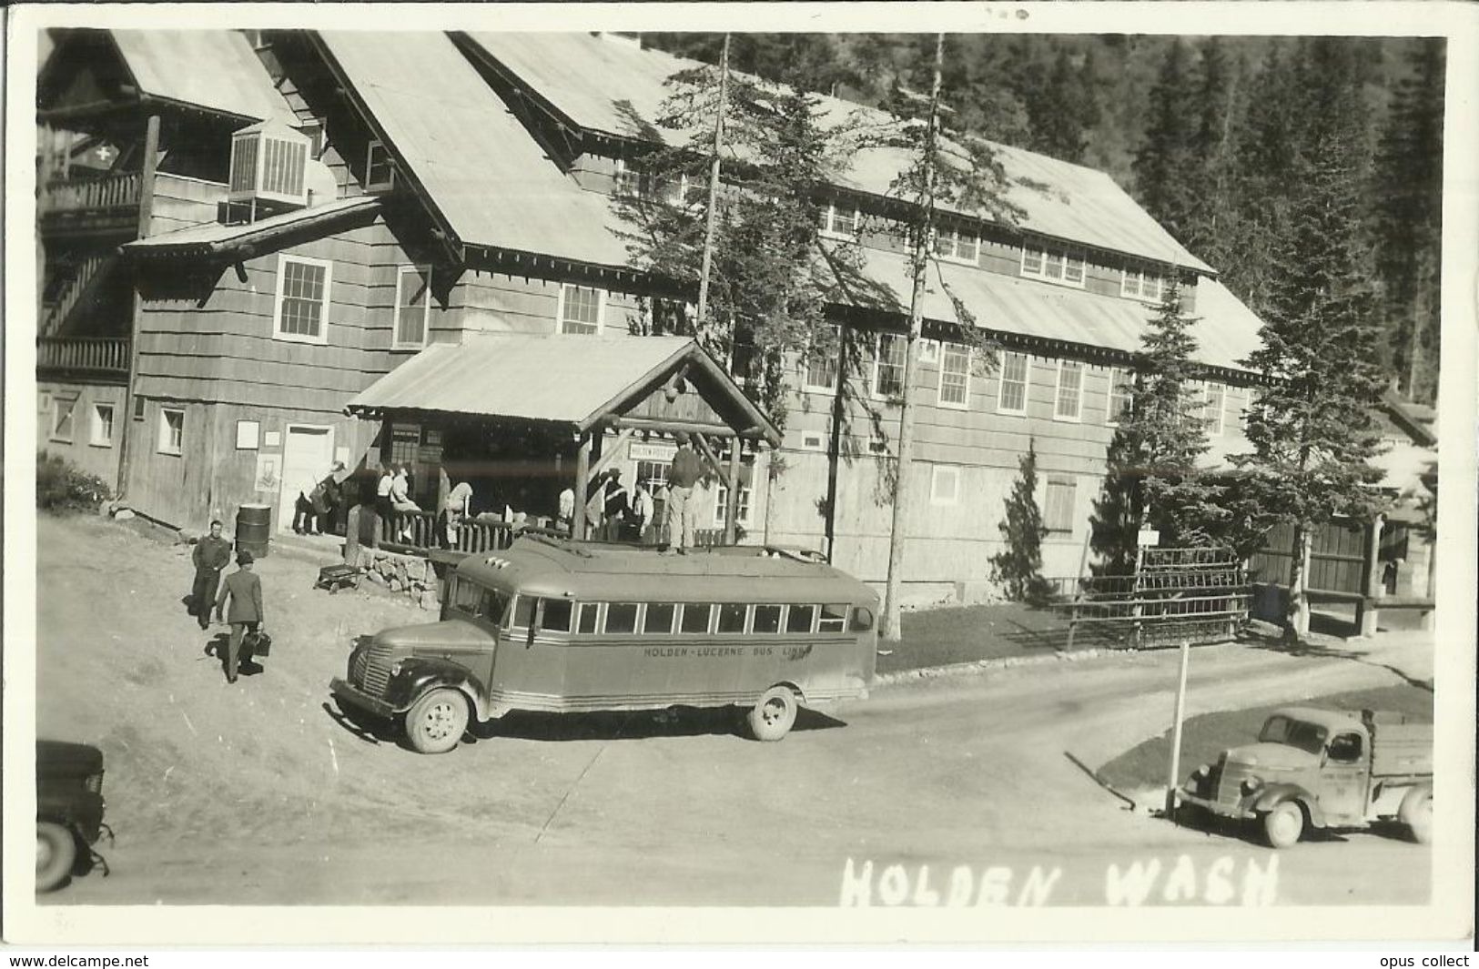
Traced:
[[[705, 470], [711, 518], [700, 524], [713, 524], [710, 543], [734, 543], [756, 502], [765, 445], [779, 444], [769, 417], [691, 337], [473, 334], [423, 349], [346, 411], [382, 422], [367, 479], [408, 470], [420, 510], [398, 516], [383, 540], [419, 552], [501, 547], [525, 527], [599, 537], [587, 502], [612, 470], [629, 490], [637, 481], [649, 488], [655, 528], [640, 538], [663, 543], [679, 432], [692, 438]], [[470, 518], [442, 536], [438, 516], [463, 484]], [[590, 506], [599, 510], [599, 499]]]

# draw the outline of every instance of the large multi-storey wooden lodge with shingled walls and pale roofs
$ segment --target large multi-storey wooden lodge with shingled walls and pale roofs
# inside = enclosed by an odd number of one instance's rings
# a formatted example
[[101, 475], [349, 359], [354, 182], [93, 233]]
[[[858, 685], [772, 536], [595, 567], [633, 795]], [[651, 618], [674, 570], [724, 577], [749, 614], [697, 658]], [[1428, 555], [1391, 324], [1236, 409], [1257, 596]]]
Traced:
[[[59, 34], [38, 78], [41, 447], [164, 522], [266, 502], [287, 525], [334, 459], [371, 478], [411, 465], [423, 507], [445, 467], [473, 481], [475, 510], [553, 515], [583, 433], [587, 470], [660, 493], [666, 429], [711, 429], [740, 472], [714, 476], [701, 524], [722, 528], [732, 503], [748, 540], [881, 583], [908, 306], [884, 197], [905, 160], [859, 152], [828, 192], [825, 234], [861, 235], [884, 297], [833, 306], [868, 359], [799, 364], [778, 433], [691, 342], [609, 351], [652, 339], [630, 336], [643, 297], [674, 294], [629, 265], [611, 195], [651, 148], [627, 111], [654, 117], [685, 67], [592, 34]], [[1123, 376], [1173, 274], [1201, 318], [1213, 456], [1245, 448], [1257, 377], [1236, 361], [1257, 318], [1105, 173], [1015, 148], [1000, 161], [1019, 225], [942, 213], [942, 274], [1003, 352], [982, 373], [951, 340], [948, 294], [927, 293], [913, 601], [984, 590], [1029, 441], [1044, 573], [1078, 571]], [[608, 357], [630, 370], [600, 377], [621, 389], [581, 428], [549, 382]]]

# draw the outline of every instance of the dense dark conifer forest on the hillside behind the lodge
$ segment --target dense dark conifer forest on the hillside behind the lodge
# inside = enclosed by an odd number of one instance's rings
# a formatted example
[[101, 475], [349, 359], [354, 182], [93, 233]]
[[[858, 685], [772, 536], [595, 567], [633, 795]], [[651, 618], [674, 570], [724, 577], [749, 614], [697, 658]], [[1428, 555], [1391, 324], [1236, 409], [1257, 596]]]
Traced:
[[[714, 34], [643, 41], [708, 62], [720, 47]], [[1316, 43], [1327, 46], [1319, 56]], [[741, 71], [886, 107], [901, 87], [927, 90], [932, 44], [927, 34], [737, 34], [731, 58]], [[1444, 41], [1426, 38], [973, 34], [948, 38], [944, 90], [954, 129], [1112, 175], [1254, 311], [1296, 228], [1312, 132], [1340, 104], [1340, 123], [1356, 132], [1350, 183], [1383, 365], [1405, 394], [1432, 401], [1444, 56]]]

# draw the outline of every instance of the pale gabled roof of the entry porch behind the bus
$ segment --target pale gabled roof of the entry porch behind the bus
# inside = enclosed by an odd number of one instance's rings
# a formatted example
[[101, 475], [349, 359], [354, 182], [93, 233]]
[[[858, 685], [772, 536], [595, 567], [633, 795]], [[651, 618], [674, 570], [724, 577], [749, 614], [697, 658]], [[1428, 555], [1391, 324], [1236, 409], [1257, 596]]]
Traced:
[[745, 436], [779, 444], [775, 425], [691, 337], [482, 333], [433, 343], [361, 391], [349, 413], [390, 410], [547, 420], [586, 431], [645, 399], [686, 367]]

